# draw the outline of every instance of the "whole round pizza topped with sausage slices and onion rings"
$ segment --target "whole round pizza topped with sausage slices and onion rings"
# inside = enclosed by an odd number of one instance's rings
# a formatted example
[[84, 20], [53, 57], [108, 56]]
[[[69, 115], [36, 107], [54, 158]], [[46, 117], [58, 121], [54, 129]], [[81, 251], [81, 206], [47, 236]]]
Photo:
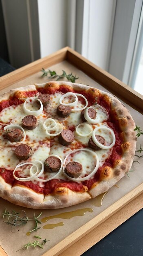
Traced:
[[0, 196], [35, 209], [108, 191], [132, 165], [134, 121], [116, 96], [51, 81], [0, 97]]

